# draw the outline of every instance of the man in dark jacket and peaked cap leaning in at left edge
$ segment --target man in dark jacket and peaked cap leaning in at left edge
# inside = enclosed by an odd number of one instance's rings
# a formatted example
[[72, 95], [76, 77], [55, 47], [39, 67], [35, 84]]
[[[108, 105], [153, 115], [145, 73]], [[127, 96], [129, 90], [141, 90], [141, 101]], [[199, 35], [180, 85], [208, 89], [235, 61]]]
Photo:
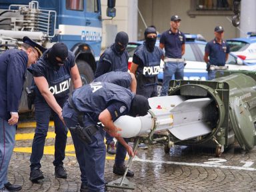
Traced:
[[35, 63], [43, 51], [45, 48], [23, 37], [20, 49], [10, 49], [0, 55], [0, 191], [21, 190], [20, 185], [8, 182], [7, 169], [15, 145], [19, 100], [27, 67]]

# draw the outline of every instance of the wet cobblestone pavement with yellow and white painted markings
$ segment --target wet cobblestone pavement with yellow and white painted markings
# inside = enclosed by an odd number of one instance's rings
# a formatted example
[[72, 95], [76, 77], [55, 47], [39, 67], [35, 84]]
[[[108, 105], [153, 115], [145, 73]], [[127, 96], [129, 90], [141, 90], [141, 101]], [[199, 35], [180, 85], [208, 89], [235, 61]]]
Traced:
[[[49, 129], [46, 154], [41, 161], [45, 179], [40, 183], [29, 181], [29, 151], [33, 131], [31, 128], [17, 130], [15, 152], [9, 166], [9, 181], [22, 185], [21, 191], [79, 191], [80, 171], [71, 137], [68, 137], [64, 161], [68, 178], [54, 177], [53, 128]], [[29, 136], [23, 137], [27, 134]], [[246, 153], [239, 145], [233, 145], [221, 158], [215, 158], [215, 149], [199, 147], [175, 146], [169, 154], [165, 154], [163, 146], [150, 145], [149, 149], [139, 149], [138, 152], [131, 167], [135, 176], [129, 178], [135, 183], [134, 191], [256, 191], [256, 147]], [[112, 173], [113, 157], [106, 157], [105, 179], [108, 182], [120, 177]], [[108, 191], [131, 190], [109, 188]]]

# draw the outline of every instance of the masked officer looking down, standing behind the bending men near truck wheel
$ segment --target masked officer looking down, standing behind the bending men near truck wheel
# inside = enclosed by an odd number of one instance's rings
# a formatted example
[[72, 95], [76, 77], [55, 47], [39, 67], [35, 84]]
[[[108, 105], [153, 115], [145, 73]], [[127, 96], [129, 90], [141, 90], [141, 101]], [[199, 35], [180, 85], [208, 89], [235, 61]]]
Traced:
[[[128, 71], [129, 54], [126, 51], [128, 42], [129, 37], [127, 33], [124, 31], [117, 33], [115, 43], [106, 49], [99, 58], [95, 78], [110, 71]], [[106, 144], [107, 153], [114, 155], [116, 153], [115, 141], [113, 141], [113, 137], [110, 137], [108, 133], [106, 133]]]

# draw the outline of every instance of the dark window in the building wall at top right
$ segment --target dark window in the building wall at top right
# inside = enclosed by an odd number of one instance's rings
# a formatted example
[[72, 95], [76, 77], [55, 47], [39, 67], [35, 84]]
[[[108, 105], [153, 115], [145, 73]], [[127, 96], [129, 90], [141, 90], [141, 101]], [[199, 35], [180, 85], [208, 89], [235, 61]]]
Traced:
[[234, 15], [233, 0], [191, 0], [190, 17], [196, 15]]

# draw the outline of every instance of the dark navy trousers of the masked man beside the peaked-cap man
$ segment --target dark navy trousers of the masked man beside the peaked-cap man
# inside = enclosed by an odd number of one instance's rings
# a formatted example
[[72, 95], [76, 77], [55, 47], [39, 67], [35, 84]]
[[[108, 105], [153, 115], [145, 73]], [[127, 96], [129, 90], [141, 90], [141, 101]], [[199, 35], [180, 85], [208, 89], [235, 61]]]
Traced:
[[[57, 103], [63, 107], [67, 98], [57, 100]], [[53, 115], [55, 127], [55, 160], [53, 165], [63, 165], [65, 159], [65, 148], [67, 143], [67, 127], [62, 123], [57, 113], [55, 113], [46, 102], [37, 101], [35, 99], [35, 120], [37, 127], [35, 128], [35, 136], [32, 144], [32, 153], [30, 157], [31, 169], [41, 168], [41, 159], [43, 157], [43, 149], [45, 146], [45, 137], [47, 136], [50, 116]]]

